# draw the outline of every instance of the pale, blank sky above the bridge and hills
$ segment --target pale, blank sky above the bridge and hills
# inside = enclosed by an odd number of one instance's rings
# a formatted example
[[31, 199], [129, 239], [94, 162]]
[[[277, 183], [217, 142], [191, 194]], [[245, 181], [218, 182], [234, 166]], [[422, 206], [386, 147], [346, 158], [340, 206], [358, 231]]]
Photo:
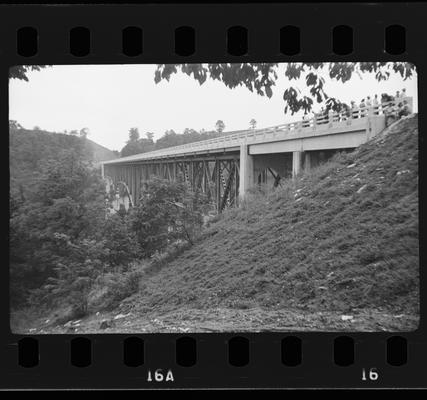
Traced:
[[[306, 93], [304, 81], [289, 82], [284, 68], [285, 64], [279, 66], [273, 96], [268, 99], [246, 87], [229, 89], [219, 81], [208, 79], [200, 85], [182, 73], [156, 84], [154, 64], [53, 66], [29, 72], [28, 82], [10, 80], [9, 119], [27, 129], [38, 126], [51, 132], [89, 128], [88, 137], [111, 150], [122, 149], [132, 127], [139, 129], [141, 137], [153, 132], [154, 140], [169, 129], [177, 133], [185, 128], [213, 130], [219, 119], [225, 131], [246, 129], [252, 118], [257, 128], [265, 128], [302, 118], [302, 113], [284, 114], [282, 96], [287, 87]], [[373, 74], [353, 75], [345, 84], [325, 75], [327, 93], [348, 104], [402, 88], [413, 97], [416, 112], [416, 74], [406, 81], [393, 74], [380, 83]]]

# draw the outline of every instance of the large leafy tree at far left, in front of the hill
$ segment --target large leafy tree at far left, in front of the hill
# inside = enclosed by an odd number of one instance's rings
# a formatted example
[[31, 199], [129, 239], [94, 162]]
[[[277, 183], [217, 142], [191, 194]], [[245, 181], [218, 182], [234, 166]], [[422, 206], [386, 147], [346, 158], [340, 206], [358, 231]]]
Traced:
[[105, 221], [104, 191], [98, 172], [75, 148], [44, 160], [33, 190], [10, 216], [15, 298], [55, 276], [60, 263], [71, 262], [58, 235], [79, 246], [81, 240], [99, 234]]

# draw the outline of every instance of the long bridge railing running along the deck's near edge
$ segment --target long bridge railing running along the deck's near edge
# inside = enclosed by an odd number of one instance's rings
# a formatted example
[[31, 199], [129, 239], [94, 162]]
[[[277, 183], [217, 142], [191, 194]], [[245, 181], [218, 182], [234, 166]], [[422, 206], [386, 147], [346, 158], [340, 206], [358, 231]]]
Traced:
[[[120, 162], [131, 162], [133, 160], [162, 158], [188, 152], [191, 153], [197, 150], [209, 150], [209, 148], [234, 147], [248, 139], [256, 140], [259, 137], [265, 137], [266, 135], [270, 134], [273, 134], [273, 137], [277, 134], [292, 135], [300, 132], [316, 131], [318, 129], [325, 128], [325, 125], [328, 125], [328, 127], [333, 127], [334, 125], [338, 126], [339, 124], [351, 124], [353, 120], [360, 121], [360, 119], [365, 119], [369, 116], [384, 115], [387, 113], [387, 110], [392, 109], [397, 104], [401, 103], [404, 99], [410, 98], [405, 97], [389, 102], [378, 103], [364, 107], [355, 107], [353, 109], [340, 112], [322, 113], [309, 119], [303, 119], [301, 121], [290, 122], [268, 128], [233, 131], [213, 139], [168, 147], [143, 154], [136, 154], [134, 156], [124, 157], [122, 159], [119, 158], [111, 162], [106, 162], [105, 164], [116, 164]], [[412, 99], [410, 102], [412, 103]]]

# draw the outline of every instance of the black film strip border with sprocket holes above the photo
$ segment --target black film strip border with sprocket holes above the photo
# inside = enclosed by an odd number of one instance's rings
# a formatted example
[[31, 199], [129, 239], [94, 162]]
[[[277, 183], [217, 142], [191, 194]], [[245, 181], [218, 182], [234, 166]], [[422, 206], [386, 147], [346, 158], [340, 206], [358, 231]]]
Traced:
[[[386, 20], [386, 10], [394, 18]], [[8, 17], [1, 18], [0, 54], [22, 64], [165, 62], [168, 58], [175, 62], [327, 61], [334, 56], [361, 61], [373, 54], [377, 60], [393, 60], [415, 54], [420, 38], [420, 27], [411, 21], [415, 15], [411, 5], [398, 3], [387, 8], [339, 3], [19, 5], [7, 11], [3, 15]]]

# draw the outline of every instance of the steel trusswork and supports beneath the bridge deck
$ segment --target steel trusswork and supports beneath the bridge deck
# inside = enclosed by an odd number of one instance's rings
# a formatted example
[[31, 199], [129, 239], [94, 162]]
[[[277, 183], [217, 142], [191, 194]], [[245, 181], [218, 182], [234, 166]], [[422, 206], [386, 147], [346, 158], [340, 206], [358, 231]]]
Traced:
[[237, 206], [251, 188], [257, 185], [277, 187], [283, 179], [316, 167], [342, 150], [249, 155], [248, 146], [242, 145], [239, 153], [232, 154], [107, 164], [104, 176], [115, 185], [125, 184], [134, 205], [139, 202], [144, 183], [158, 177], [185, 182], [190, 190], [206, 196], [212, 207], [221, 212]]

